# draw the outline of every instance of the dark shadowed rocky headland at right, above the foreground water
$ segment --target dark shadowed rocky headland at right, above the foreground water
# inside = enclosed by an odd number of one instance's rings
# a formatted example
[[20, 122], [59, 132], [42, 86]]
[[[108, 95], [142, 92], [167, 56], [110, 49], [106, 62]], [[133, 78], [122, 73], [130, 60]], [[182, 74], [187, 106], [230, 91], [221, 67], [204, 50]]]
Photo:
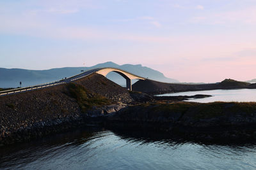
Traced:
[[256, 103], [151, 103], [128, 106], [106, 118], [112, 129], [150, 129], [194, 141], [256, 139]]

